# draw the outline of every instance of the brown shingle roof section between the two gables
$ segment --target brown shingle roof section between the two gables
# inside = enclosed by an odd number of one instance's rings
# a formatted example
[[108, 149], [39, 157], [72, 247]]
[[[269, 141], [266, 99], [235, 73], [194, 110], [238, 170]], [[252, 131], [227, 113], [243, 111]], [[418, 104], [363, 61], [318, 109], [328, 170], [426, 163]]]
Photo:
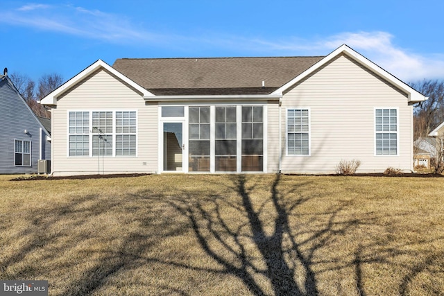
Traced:
[[112, 67], [155, 95], [270, 94], [322, 58], [123, 58]]

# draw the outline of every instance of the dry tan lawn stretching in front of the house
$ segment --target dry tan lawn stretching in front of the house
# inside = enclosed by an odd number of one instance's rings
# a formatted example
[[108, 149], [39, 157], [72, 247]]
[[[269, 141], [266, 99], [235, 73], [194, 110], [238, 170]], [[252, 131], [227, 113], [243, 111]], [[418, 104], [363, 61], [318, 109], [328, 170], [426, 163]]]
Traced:
[[442, 295], [444, 179], [0, 175], [0, 279], [49, 295]]

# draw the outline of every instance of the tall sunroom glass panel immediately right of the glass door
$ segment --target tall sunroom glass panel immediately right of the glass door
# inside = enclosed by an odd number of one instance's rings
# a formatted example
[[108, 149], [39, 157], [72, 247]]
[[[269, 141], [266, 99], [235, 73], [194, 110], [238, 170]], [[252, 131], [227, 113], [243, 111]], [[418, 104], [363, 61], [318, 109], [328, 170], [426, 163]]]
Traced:
[[210, 171], [210, 107], [189, 107], [189, 171]]

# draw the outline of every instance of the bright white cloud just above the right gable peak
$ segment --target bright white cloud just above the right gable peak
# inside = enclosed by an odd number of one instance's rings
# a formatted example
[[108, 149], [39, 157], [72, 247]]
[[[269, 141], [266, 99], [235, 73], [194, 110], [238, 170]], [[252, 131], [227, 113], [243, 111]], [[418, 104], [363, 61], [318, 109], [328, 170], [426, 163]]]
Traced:
[[245, 42], [247, 49], [256, 47], [257, 51], [271, 51], [274, 55], [327, 55], [347, 44], [403, 81], [444, 78], [444, 55], [424, 55], [402, 49], [393, 44], [394, 36], [387, 32], [348, 32], [316, 40], [283, 39], [282, 42], [244, 40], [241, 43]]

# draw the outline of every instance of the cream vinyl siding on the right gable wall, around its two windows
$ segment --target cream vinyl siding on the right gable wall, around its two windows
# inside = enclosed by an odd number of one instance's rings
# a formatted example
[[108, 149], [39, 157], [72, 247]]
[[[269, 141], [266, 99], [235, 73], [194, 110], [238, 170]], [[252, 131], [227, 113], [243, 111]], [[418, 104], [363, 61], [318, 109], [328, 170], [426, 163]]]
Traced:
[[[309, 107], [309, 156], [287, 155], [287, 109]], [[271, 109], [271, 108], [270, 108]], [[274, 107], [273, 110], [277, 109]], [[361, 161], [358, 173], [384, 172], [392, 166], [413, 169], [413, 107], [407, 94], [346, 55], [339, 55], [283, 94], [282, 173], [335, 173], [341, 160]], [[375, 153], [375, 109], [397, 110], [397, 155]], [[278, 119], [279, 113], [271, 114]], [[268, 147], [279, 150], [278, 124], [268, 129]], [[270, 155], [268, 155], [270, 156]], [[274, 161], [274, 162], [273, 162]], [[268, 161], [278, 167], [279, 158]]]

